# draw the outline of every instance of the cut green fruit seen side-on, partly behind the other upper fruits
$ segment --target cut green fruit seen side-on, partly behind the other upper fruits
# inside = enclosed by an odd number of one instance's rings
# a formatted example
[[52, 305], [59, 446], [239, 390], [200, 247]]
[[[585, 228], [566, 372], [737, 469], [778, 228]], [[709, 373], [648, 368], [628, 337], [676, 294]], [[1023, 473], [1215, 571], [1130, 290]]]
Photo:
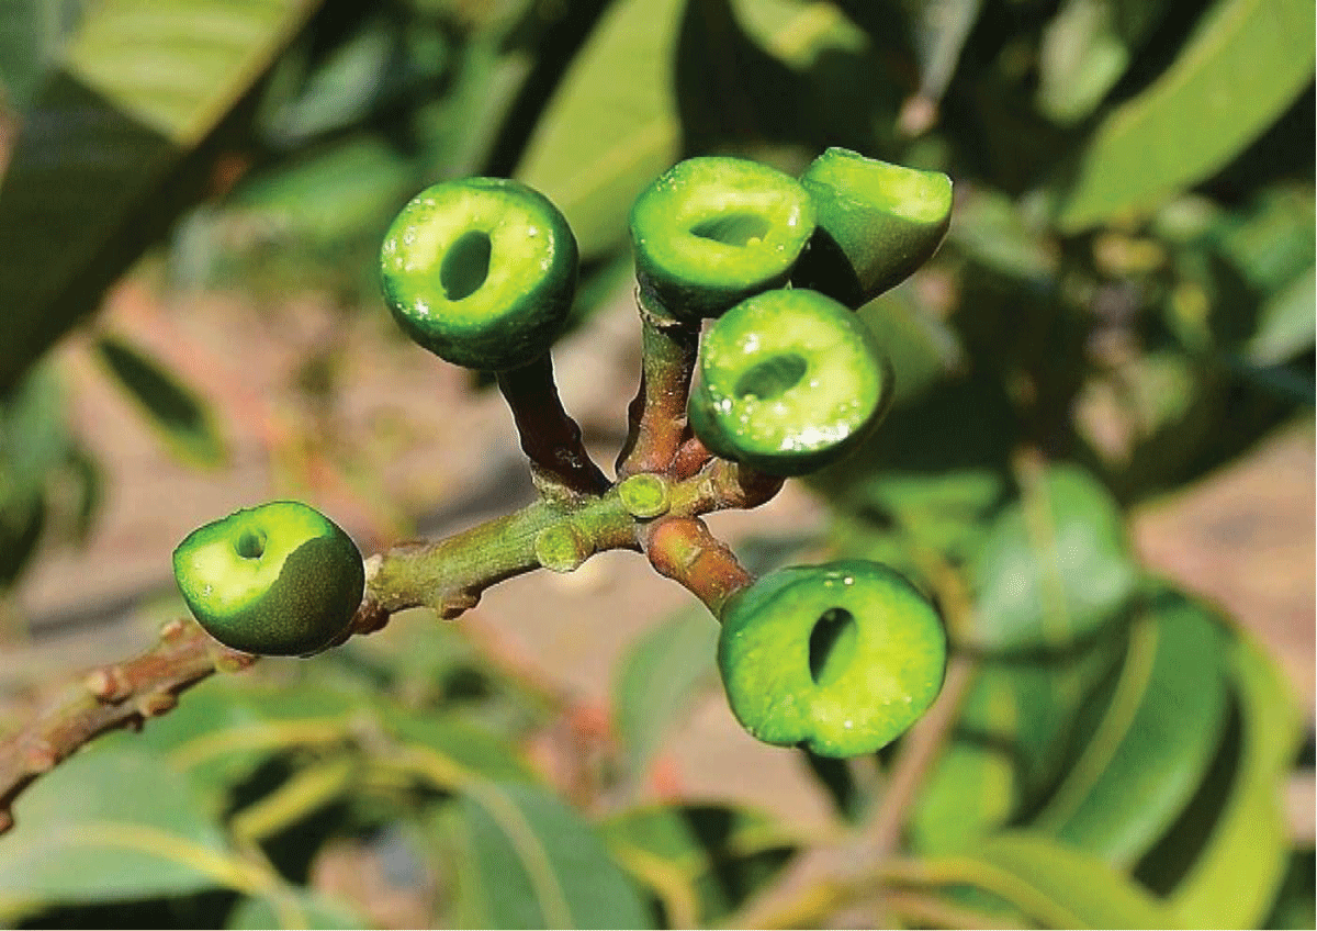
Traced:
[[818, 228], [792, 274], [852, 309], [900, 284], [951, 224], [951, 179], [828, 149], [801, 175]]

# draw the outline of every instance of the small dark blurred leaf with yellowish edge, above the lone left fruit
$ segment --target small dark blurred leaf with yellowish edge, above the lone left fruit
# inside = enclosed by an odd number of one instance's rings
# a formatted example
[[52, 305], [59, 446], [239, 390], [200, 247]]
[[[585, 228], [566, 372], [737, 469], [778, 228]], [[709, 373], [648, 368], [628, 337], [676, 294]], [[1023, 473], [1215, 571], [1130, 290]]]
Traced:
[[97, 338], [96, 352], [174, 456], [199, 466], [224, 462], [224, 440], [209, 407], [178, 375], [115, 336]]

